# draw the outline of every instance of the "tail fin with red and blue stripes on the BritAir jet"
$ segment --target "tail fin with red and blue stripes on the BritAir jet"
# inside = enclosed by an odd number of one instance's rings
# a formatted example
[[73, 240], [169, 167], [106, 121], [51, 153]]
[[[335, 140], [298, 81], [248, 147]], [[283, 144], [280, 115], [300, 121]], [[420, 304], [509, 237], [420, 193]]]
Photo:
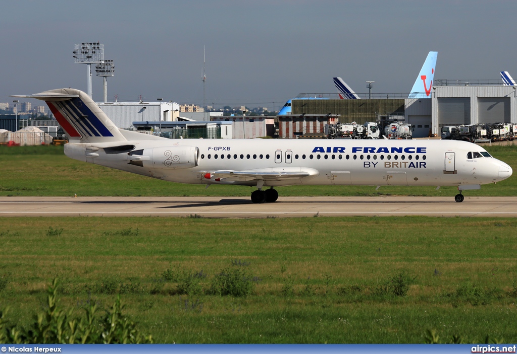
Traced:
[[70, 140], [103, 143], [127, 140], [86, 93], [56, 89], [34, 95], [16, 96], [44, 100]]

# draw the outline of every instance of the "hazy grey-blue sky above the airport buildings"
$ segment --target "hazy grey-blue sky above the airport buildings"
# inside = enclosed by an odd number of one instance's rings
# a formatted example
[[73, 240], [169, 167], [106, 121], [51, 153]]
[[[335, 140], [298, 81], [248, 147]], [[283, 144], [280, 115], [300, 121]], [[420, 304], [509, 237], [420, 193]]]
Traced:
[[[100, 41], [115, 62], [108, 100], [174, 100], [278, 109], [298, 93], [408, 92], [427, 53], [435, 79], [517, 77], [517, 2], [28, 1], [0, 2], [0, 95], [86, 91], [74, 44]], [[93, 77], [95, 100], [102, 79]], [[8, 102], [11, 98], [0, 98]]]

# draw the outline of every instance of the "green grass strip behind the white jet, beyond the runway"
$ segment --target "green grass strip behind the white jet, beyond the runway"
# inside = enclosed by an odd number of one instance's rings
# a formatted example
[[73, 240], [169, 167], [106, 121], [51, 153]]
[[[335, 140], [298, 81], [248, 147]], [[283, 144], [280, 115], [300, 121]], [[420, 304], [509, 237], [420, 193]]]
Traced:
[[[517, 171], [517, 145], [486, 146], [496, 158]], [[249, 196], [244, 186], [211, 186], [171, 183], [72, 160], [62, 146], [0, 146], [0, 196]], [[278, 188], [280, 196], [454, 196], [454, 187], [293, 186]], [[517, 176], [467, 196], [517, 195]]]

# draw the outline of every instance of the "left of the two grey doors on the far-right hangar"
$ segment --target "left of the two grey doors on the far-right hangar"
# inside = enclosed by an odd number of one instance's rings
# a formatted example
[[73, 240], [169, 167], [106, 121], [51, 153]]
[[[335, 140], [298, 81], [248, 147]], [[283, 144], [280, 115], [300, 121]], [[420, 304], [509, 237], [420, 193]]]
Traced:
[[470, 97], [439, 97], [438, 127], [470, 124]]

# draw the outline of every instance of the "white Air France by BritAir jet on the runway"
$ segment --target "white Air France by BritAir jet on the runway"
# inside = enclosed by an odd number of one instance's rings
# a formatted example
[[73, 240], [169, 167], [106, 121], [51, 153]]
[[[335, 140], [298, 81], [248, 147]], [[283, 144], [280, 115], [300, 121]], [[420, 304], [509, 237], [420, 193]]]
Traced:
[[[253, 186], [253, 203], [277, 186], [455, 186], [502, 181], [512, 169], [482, 147], [455, 140], [166, 139], [118, 129], [84, 92], [34, 95], [70, 137], [66, 156], [139, 175], [192, 184]], [[269, 187], [269, 189], [267, 188]]]

